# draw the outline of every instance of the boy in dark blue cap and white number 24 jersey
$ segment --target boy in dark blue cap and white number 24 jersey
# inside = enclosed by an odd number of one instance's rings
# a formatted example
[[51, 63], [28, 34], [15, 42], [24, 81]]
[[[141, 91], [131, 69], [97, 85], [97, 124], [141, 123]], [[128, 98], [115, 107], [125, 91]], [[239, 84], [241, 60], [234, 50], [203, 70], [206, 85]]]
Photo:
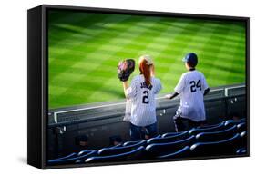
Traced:
[[203, 73], [195, 69], [198, 63], [197, 55], [188, 53], [182, 61], [188, 72], [181, 75], [175, 92], [166, 95], [169, 99], [180, 96], [180, 105], [173, 117], [176, 131], [188, 130], [206, 121], [203, 96], [210, 92]]

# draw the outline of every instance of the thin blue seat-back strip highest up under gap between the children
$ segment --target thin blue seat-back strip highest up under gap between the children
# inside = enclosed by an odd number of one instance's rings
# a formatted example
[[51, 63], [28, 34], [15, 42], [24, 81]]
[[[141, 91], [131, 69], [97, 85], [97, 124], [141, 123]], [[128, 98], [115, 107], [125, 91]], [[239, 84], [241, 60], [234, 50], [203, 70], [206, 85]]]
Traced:
[[173, 142], [173, 141], [177, 141], [177, 140], [184, 140], [187, 139], [189, 137], [189, 131], [184, 131], [182, 133], [179, 134], [174, 134], [172, 136], [167, 136], [167, 137], [159, 137], [159, 138], [152, 138], [149, 139], [147, 142], [148, 144], [151, 143], [163, 143], [163, 142]]

